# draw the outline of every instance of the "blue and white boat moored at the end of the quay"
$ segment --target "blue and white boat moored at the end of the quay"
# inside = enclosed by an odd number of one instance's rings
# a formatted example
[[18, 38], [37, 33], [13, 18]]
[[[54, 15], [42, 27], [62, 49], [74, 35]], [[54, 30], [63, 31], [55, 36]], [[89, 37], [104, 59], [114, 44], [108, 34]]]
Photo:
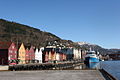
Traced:
[[95, 51], [88, 51], [85, 56], [85, 64], [88, 63], [98, 63], [100, 61]]

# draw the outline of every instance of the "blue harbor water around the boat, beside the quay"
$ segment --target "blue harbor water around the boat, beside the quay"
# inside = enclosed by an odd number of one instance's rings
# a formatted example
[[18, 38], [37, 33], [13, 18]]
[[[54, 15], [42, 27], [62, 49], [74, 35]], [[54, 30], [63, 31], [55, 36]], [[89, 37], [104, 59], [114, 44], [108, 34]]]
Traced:
[[120, 80], [120, 61], [101, 61], [74, 67], [74, 69], [103, 69], [116, 80]]

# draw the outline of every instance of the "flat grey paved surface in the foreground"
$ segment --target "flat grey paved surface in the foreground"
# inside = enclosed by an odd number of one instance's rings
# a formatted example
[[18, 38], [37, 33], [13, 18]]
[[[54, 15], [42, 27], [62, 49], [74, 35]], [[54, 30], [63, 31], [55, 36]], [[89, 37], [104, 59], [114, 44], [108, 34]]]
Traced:
[[105, 80], [96, 70], [1, 71], [0, 80]]

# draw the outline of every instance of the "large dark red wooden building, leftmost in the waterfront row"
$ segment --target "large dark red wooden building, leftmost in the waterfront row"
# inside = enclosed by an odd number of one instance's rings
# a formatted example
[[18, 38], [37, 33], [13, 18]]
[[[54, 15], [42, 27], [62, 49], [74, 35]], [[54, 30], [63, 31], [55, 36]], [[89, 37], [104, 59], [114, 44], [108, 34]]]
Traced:
[[17, 63], [17, 48], [15, 43], [0, 42], [0, 65]]

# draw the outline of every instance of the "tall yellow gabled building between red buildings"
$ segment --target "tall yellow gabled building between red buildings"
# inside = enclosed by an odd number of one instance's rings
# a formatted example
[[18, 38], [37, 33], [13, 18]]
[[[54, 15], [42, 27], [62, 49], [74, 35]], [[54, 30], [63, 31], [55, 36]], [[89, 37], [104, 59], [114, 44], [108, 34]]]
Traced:
[[19, 56], [18, 59], [20, 60], [19, 64], [25, 64], [25, 54], [26, 54], [25, 47], [24, 44], [22, 43], [19, 48], [19, 54], [18, 54]]

